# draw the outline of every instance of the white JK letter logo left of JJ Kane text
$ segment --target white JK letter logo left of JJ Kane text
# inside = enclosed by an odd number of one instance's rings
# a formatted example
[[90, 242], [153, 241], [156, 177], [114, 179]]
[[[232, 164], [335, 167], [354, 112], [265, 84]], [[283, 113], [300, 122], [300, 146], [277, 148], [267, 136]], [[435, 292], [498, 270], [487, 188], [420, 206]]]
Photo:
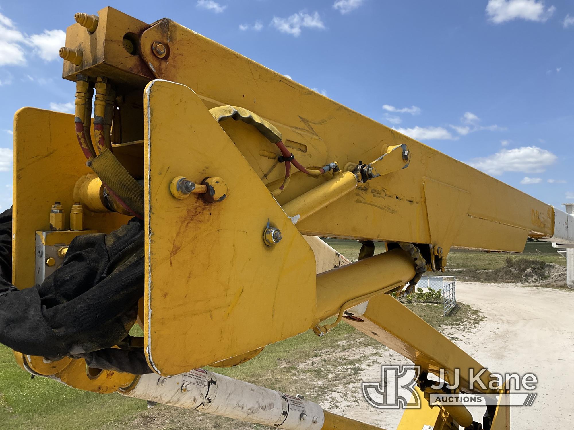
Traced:
[[420, 366], [381, 366], [380, 382], [361, 384], [363, 396], [375, 408], [418, 409], [421, 401], [414, 387], [420, 373]]

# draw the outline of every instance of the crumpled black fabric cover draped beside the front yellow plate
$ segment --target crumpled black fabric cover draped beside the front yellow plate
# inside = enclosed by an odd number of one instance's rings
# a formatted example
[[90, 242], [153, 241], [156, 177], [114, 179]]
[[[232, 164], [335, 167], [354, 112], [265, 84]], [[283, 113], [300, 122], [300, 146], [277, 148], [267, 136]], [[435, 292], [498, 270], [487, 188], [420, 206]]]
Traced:
[[126, 338], [144, 295], [143, 221], [76, 237], [60, 268], [41, 286], [19, 291], [9, 282], [11, 218], [11, 209], [0, 214], [0, 343], [26, 355], [87, 353], [82, 358], [111, 369], [151, 372], [143, 349], [107, 350]]

